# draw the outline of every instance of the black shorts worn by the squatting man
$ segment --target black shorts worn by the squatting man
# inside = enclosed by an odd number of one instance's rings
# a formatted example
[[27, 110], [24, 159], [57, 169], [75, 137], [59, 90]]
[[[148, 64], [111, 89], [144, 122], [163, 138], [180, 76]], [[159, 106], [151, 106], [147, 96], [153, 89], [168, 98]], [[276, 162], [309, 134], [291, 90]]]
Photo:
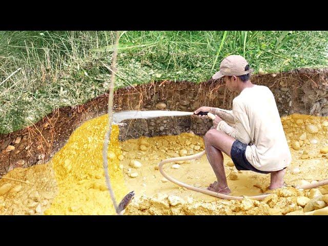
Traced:
[[232, 161], [235, 164], [236, 169], [237, 170], [250, 170], [253, 172], [264, 173], [264, 174], [271, 173], [271, 172], [267, 172], [267, 171], [260, 171], [251, 165], [251, 163], [246, 159], [246, 156], [245, 156], [246, 147], [247, 147], [247, 145], [243, 144], [241, 141], [239, 141], [237, 139], [232, 144], [230, 155], [231, 155]]

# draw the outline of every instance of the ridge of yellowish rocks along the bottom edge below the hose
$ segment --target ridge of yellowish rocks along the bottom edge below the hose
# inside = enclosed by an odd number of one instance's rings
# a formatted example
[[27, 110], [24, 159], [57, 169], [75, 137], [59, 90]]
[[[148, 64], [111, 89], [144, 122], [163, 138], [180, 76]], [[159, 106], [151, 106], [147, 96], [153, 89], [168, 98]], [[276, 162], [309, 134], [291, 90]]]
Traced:
[[[325, 192], [327, 189], [322, 188]], [[126, 209], [133, 215], [303, 215], [327, 206], [328, 195], [318, 189], [305, 192], [301, 189], [285, 188], [273, 192], [262, 201], [248, 197], [237, 200], [195, 201], [193, 197], [182, 199], [175, 195], [142, 195]]]

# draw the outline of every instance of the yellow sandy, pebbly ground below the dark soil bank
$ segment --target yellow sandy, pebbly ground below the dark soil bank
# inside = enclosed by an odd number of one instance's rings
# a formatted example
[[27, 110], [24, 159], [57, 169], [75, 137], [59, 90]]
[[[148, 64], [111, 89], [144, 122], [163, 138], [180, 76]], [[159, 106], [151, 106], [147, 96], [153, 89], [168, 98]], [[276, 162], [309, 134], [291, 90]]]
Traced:
[[[287, 185], [328, 179], [327, 117], [291, 115], [281, 119], [293, 161]], [[76, 129], [52, 160], [27, 169], [16, 168], [0, 180], [1, 214], [113, 214], [101, 157], [106, 115]], [[117, 203], [129, 191], [136, 195], [125, 214], [328, 214], [328, 187], [308, 191], [293, 187], [271, 191], [263, 201], [247, 197], [227, 201], [182, 189], [156, 169], [162, 159], [203, 150], [203, 139], [192, 133], [141, 137], [119, 142], [113, 127], [108, 160]], [[224, 155], [232, 195], [268, 193], [270, 175], [237, 171]], [[165, 171], [190, 185], [206, 188], [215, 180], [206, 156], [168, 163]]]

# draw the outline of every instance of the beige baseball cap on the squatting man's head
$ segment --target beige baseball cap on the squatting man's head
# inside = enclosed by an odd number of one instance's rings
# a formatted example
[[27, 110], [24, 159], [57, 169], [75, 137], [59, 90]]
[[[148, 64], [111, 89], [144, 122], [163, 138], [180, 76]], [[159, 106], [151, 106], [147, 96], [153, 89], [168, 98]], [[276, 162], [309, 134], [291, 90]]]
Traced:
[[245, 67], [249, 65], [247, 60], [241, 55], [229, 55], [221, 61], [220, 71], [216, 72], [212, 78], [218, 79], [223, 76], [240, 76], [254, 71], [249, 69], [245, 71]]

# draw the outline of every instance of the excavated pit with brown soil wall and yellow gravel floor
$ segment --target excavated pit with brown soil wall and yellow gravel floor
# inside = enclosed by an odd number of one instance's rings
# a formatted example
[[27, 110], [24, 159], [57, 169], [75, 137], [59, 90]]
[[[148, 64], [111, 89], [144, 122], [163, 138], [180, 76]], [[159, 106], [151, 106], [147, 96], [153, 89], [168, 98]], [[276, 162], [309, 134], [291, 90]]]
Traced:
[[[286, 183], [327, 179], [327, 71], [258, 75], [252, 81], [268, 86], [275, 95], [293, 156]], [[61, 108], [33, 127], [1, 135], [1, 174], [7, 173], [0, 180], [1, 214], [113, 214], [100, 157], [107, 96], [82, 106]], [[222, 81], [198, 85], [161, 81], [117, 90], [114, 110], [192, 112], [200, 106], [231, 109], [234, 96]], [[97, 117], [100, 115], [104, 116]], [[83, 124], [86, 120], [89, 121]], [[124, 123], [119, 129], [114, 128], [109, 163], [113, 163], [110, 172], [117, 200], [131, 190], [136, 192], [125, 214], [303, 214], [304, 206], [297, 199], [328, 193], [328, 187], [310, 191], [286, 188], [262, 202], [247, 198], [239, 202], [179, 188], [164, 180], [156, 166], [162, 159], [203, 150], [202, 136], [212, 126], [211, 120], [183, 116]], [[142, 167], [131, 167], [131, 160], [139, 161]], [[269, 175], [236, 172], [226, 155], [224, 163], [233, 195], [268, 192]], [[194, 186], [207, 187], [215, 178], [206, 156], [174, 165], [178, 168], [172, 168], [173, 163], [166, 165], [166, 172]], [[321, 203], [319, 207], [323, 206]]]

